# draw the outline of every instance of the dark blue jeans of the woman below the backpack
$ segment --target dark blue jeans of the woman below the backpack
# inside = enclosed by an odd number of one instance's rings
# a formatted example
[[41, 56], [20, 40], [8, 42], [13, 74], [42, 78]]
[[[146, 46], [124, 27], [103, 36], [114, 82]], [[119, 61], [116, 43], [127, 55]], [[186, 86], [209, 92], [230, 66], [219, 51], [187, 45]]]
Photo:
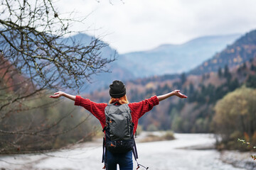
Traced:
[[120, 170], [132, 170], [132, 151], [124, 154], [111, 153], [107, 151], [107, 170], [117, 170], [117, 164], [119, 164]]

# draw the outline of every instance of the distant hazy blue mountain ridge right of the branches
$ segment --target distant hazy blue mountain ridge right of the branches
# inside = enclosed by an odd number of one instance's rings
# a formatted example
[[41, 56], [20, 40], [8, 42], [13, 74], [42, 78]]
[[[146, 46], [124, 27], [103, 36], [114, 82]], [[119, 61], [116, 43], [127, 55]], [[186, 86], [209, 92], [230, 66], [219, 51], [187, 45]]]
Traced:
[[233, 43], [240, 35], [205, 36], [181, 45], [160, 45], [153, 50], [129, 52], [119, 55], [117, 64], [131, 70], [138, 78], [188, 72]]

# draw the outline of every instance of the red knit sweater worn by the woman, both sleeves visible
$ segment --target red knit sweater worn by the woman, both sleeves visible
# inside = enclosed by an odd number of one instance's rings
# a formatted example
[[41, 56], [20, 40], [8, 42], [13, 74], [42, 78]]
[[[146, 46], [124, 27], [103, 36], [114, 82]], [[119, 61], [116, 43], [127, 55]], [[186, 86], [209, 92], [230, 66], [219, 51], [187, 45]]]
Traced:
[[[140, 101], [137, 103], [129, 103], [129, 108], [132, 111], [132, 121], [134, 123], [134, 133], [137, 130], [137, 125], [139, 122], [139, 118], [144, 115], [144, 113], [151, 111], [151, 109], [159, 104], [159, 100], [156, 96], [153, 96], [149, 99], [146, 99], [144, 101]], [[75, 106], [82, 106], [87, 111], [90, 111], [92, 115], [95, 115], [95, 117], [100, 120], [100, 124], [102, 125], [102, 128], [105, 127], [106, 118], [105, 118], [105, 107], [107, 106], [107, 103], [95, 103], [93, 101], [90, 101], [90, 99], [82, 98], [81, 96], [75, 96]]]

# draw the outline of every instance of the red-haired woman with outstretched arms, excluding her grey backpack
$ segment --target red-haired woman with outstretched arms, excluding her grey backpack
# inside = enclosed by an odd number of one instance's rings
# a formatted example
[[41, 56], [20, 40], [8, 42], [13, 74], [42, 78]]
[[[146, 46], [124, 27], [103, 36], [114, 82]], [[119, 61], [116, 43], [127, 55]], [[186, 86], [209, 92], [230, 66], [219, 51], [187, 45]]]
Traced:
[[[95, 103], [90, 101], [90, 99], [82, 98], [80, 96], [65, 94], [62, 91], [58, 91], [53, 96], [50, 96], [50, 98], [59, 98], [60, 96], [69, 98], [75, 101], [75, 106], [82, 106], [87, 111], [90, 111], [92, 115], [95, 115], [95, 117], [98, 120], [100, 120], [100, 124], [102, 125], [102, 128], [105, 127], [105, 123], [106, 123], [105, 107], [107, 106], [107, 103]], [[112, 84], [110, 84], [110, 96], [111, 96], [111, 99], [109, 103], [118, 103], [120, 105], [124, 103], [129, 103], [126, 96], [126, 88], [122, 83], [122, 81], [115, 80], [112, 82]], [[134, 133], [137, 130], [139, 118], [141, 118], [142, 115], [144, 115], [144, 113], [150, 111], [154, 106], [158, 105], [159, 101], [163, 101], [164, 99], [169, 98], [171, 96], [178, 96], [179, 98], [187, 98], [187, 96], [181, 94], [179, 90], [175, 90], [175, 91], [171, 91], [168, 94], [164, 94], [161, 96], [153, 96], [149, 99], [146, 99], [144, 101], [140, 101], [137, 103], [129, 103], [128, 106], [131, 110], [132, 122], [134, 123]], [[107, 151], [107, 160], [105, 162], [107, 170], [116, 170], [117, 164], [119, 164], [120, 170], [133, 169], [132, 151], [124, 154], [114, 154]]]

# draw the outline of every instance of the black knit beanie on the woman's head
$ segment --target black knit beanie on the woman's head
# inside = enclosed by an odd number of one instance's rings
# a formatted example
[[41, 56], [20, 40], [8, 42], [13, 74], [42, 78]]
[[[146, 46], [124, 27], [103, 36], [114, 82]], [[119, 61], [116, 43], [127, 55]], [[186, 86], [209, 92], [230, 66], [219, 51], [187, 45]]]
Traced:
[[126, 94], [126, 89], [122, 81], [115, 80], [110, 84], [110, 96], [120, 98]]

